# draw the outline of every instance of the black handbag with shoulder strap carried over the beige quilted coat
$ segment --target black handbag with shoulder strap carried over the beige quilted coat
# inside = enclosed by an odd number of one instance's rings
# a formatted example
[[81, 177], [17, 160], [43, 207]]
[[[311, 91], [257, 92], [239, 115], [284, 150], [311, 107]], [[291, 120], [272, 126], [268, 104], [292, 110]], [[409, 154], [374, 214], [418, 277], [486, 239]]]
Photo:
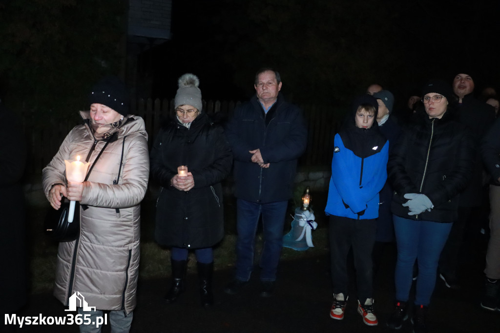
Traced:
[[[111, 141], [112, 137], [115, 134], [116, 132], [109, 137], [106, 144], [99, 151], [99, 154], [97, 155], [97, 157], [95, 157], [95, 160], [90, 166], [90, 169], [87, 171], [85, 180], [83, 181], [86, 181], [88, 179], [88, 176], [90, 175], [95, 162], [99, 159], [107, 144]], [[90, 152], [85, 161], [88, 161], [88, 158], [90, 158]], [[45, 216], [43, 229], [45, 230], [45, 234], [47, 234], [54, 241], [72, 241], [75, 240], [80, 233], [80, 203], [78, 201], [75, 202], [73, 221], [68, 222], [67, 218], [69, 212], [69, 202], [70, 201], [68, 199], [64, 198], [64, 200], [61, 201], [61, 206], [59, 209], [50, 209]]]

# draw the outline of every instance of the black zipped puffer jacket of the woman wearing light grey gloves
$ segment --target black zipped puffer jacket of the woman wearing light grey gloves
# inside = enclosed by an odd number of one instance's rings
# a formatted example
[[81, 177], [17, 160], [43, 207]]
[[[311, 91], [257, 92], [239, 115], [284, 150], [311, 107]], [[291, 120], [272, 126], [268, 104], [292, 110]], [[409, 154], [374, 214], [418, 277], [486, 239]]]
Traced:
[[[454, 121], [448, 110], [442, 118], [424, 114], [403, 130], [387, 163], [394, 189], [391, 210], [401, 217], [453, 222], [457, 219], [458, 193], [470, 179], [474, 162], [473, 138], [465, 126]], [[427, 195], [434, 207], [408, 215], [406, 193]]]

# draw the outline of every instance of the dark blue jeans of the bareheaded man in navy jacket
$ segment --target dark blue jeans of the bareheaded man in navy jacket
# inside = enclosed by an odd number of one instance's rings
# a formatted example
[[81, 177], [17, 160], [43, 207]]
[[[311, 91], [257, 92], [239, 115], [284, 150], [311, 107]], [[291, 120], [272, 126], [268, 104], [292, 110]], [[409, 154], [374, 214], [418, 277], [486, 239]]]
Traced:
[[264, 243], [260, 256], [260, 280], [274, 281], [281, 247], [283, 245], [283, 226], [288, 201], [269, 203], [236, 200], [236, 274], [235, 278], [248, 281], [253, 270], [253, 253], [258, 218], [262, 214]]

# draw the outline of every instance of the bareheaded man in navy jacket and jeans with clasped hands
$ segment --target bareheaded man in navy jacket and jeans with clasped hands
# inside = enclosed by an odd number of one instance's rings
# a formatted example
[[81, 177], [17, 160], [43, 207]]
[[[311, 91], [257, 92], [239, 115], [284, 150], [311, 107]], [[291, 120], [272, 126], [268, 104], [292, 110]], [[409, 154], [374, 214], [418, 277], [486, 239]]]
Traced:
[[262, 216], [264, 242], [260, 257], [260, 296], [274, 290], [283, 224], [291, 197], [297, 158], [304, 152], [307, 127], [301, 110], [279, 93], [281, 79], [271, 68], [255, 75], [256, 95], [238, 106], [225, 134], [234, 156], [237, 198], [236, 272], [224, 288], [238, 293], [253, 271], [255, 233]]

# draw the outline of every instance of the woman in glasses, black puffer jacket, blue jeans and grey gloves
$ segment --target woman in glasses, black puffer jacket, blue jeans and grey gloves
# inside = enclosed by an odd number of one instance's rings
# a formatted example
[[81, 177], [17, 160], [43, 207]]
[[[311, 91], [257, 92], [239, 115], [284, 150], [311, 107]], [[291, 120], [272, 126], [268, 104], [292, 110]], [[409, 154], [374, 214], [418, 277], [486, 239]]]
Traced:
[[442, 80], [422, 88], [426, 116], [402, 131], [387, 163], [394, 189], [391, 210], [397, 244], [396, 306], [387, 325], [407, 317], [413, 264], [418, 261], [413, 331], [426, 332], [426, 312], [436, 281], [439, 254], [458, 218], [458, 194], [474, 161], [473, 138], [453, 120], [452, 91]]

